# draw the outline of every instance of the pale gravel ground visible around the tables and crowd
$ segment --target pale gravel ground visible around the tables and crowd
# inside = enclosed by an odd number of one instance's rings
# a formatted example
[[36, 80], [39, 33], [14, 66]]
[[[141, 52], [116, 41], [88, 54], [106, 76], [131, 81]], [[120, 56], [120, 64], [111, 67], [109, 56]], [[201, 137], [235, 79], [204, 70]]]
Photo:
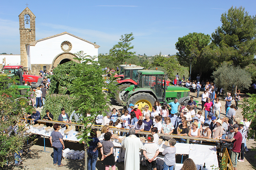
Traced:
[[[200, 92], [200, 95], [202, 95], [203, 92]], [[201, 97], [195, 98], [196, 93], [190, 93], [191, 96], [194, 97], [194, 100], [199, 101], [199, 109], [201, 110]], [[241, 95], [241, 98], [247, 97], [246, 95]], [[225, 110], [225, 101], [220, 101], [222, 106], [222, 110]], [[232, 102], [234, 104], [235, 102]], [[121, 106], [118, 106], [115, 101], [112, 102], [111, 108], [117, 108], [119, 110], [122, 110], [123, 108]], [[197, 110], [197, 111], [198, 111]], [[222, 111], [222, 112], [223, 112]], [[242, 109], [237, 110], [237, 116], [242, 120]], [[203, 114], [204, 115], [204, 114]], [[21, 166], [9, 166], [8, 169], [29, 169], [29, 170], [78, 170], [78, 169], [84, 169], [84, 159], [82, 160], [70, 160], [66, 158], [62, 158], [61, 163], [65, 166], [63, 167], [57, 167], [53, 165], [53, 149], [50, 147], [50, 141], [49, 138], [45, 139], [46, 142], [46, 151], [44, 151], [44, 141], [43, 138], [39, 139], [35, 145], [30, 147], [30, 151], [25, 151], [23, 154], [22, 160], [23, 164]], [[251, 170], [251, 165], [256, 165], [254, 155], [256, 155], [255, 151], [251, 150], [251, 147], [253, 146], [254, 141], [252, 139], [247, 140], [247, 147], [249, 152], [245, 152], [245, 158], [244, 162], [238, 162], [238, 169], [243, 170]], [[75, 143], [75, 142], [65, 142], [65, 148], [73, 149], [73, 150], [83, 150], [83, 144]], [[124, 163], [117, 163], [116, 164], [117, 170], [123, 170], [124, 169]], [[105, 166], [103, 165], [102, 161], [98, 159], [96, 163], [96, 169], [103, 170], [105, 169]], [[111, 169], [111, 168], [110, 168]], [[146, 170], [146, 166], [140, 165], [141, 170]]]

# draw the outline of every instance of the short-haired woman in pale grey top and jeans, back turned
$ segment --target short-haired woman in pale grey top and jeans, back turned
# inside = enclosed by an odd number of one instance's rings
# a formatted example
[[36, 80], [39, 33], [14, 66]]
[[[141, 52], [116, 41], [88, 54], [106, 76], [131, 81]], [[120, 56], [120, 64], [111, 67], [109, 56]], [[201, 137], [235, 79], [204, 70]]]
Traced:
[[173, 169], [175, 164], [175, 154], [176, 154], [176, 144], [175, 139], [169, 140], [170, 147], [167, 147], [163, 150], [162, 154], [164, 155], [163, 159], [163, 170]]

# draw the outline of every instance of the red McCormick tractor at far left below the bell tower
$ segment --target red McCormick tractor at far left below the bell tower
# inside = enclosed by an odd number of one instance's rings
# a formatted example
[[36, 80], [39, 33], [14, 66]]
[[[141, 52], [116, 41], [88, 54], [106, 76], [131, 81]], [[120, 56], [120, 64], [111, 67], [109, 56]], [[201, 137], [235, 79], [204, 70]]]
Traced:
[[36, 75], [24, 75], [23, 66], [21, 65], [6, 65], [4, 66], [6, 74], [14, 74], [19, 77], [20, 85], [24, 85], [26, 82], [30, 83], [33, 89], [36, 89], [41, 85], [42, 77]]

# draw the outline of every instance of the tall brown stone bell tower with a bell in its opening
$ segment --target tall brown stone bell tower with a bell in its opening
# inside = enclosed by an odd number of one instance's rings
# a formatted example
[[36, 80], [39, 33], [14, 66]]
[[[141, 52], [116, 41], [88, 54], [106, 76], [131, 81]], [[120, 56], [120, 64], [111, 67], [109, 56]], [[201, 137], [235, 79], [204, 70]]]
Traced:
[[36, 41], [35, 19], [36, 16], [28, 7], [19, 15], [20, 65], [24, 67], [28, 67], [29, 57], [26, 50], [26, 44]]

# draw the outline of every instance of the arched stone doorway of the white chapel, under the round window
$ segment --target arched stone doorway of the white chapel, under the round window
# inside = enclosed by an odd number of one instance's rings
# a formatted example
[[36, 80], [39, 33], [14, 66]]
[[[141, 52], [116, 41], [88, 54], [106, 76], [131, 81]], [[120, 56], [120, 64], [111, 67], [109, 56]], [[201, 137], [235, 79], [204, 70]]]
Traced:
[[74, 59], [75, 55], [69, 52], [61, 53], [57, 55], [52, 61], [52, 68], [56, 68], [58, 64], [67, 63], [69, 61], [74, 61], [76, 63], [81, 63], [79, 60]]

